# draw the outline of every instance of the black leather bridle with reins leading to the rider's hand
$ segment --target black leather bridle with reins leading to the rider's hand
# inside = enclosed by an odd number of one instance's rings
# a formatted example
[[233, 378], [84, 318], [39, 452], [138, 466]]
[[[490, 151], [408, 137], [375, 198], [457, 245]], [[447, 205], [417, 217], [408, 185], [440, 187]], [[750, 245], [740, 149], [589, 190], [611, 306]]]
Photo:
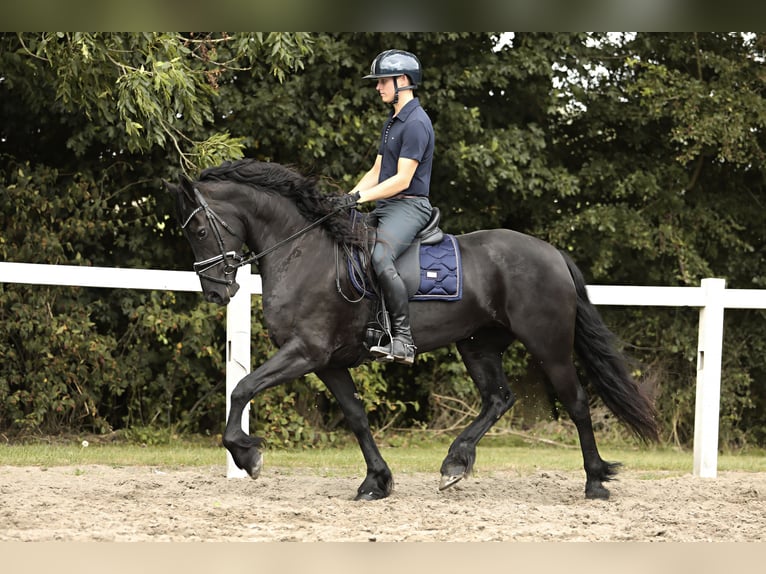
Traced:
[[[189, 225], [189, 222], [194, 218], [195, 215], [197, 215], [200, 211], [204, 212], [205, 217], [207, 218], [208, 223], [210, 224], [211, 229], [213, 230], [213, 234], [215, 235], [216, 241], [218, 242], [218, 248], [221, 250], [221, 253], [218, 255], [214, 255], [213, 257], [210, 257], [208, 259], [204, 259], [203, 261], [195, 261], [194, 262], [194, 271], [197, 273], [197, 276], [199, 276], [200, 279], [207, 279], [208, 281], [212, 281], [213, 283], [220, 283], [222, 285], [233, 285], [234, 284], [234, 276], [237, 273], [237, 269], [240, 267], [244, 267], [245, 265], [249, 265], [253, 262], [258, 262], [259, 259], [262, 257], [268, 255], [272, 251], [275, 251], [282, 247], [283, 245], [290, 243], [291, 241], [297, 239], [301, 235], [311, 231], [318, 225], [320, 225], [322, 222], [324, 222], [326, 219], [329, 219], [339, 211], [342, 211], [344, 209], [349, 209], [349, 205], [339, 205], [337, 208], [333, 209], [326, 215], [320, 217], [313, 223], [310, 223], [303, 229], [298, 230], [297, 232], [293, 233], [290, 237], [287, 237], [281, 241], [278, 241], [268, 249], [264, 249], [260, 253], [256, 253], [253, 255], [249, 255], [248, 257], [243, 257], [236, 251], [226, 251], [226, 247], [223, 244], [223, 236], [221, 235], [221, 228], [228, 231], [231, 235], [239, 239], [242, 243], [246, 243], [244, 239], [242, 239], [239, 235], [237, 235], [234, 232], [234, 229], [226, 223], [221, 217], [213, 211], [213, 209], [208, 205], [207, 201], [203, 197], [202, 193], [195, 187], [194, 188], [194, 197], [197, 198], [197, 202], [199, 203], [199, 206], [196, 207], [186, 218], [186, 221], [184, 221], [181, 224], [181, 229], [185, 229], [187, 225]], [[219, 279], [218, 277], [213, 277], [211, 275], [208, 275], [207, 272], [210, 271], [213, 267], [215, 267], [218, 264], [223, 264], [223, 274], [224, 279]]]

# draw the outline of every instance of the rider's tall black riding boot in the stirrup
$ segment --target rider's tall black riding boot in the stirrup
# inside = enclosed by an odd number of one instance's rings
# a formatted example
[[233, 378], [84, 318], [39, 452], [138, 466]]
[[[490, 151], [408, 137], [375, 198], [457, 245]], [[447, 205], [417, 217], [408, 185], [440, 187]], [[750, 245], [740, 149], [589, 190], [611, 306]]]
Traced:
[[396, 361], [411, 365], [415, 362], [415, 343], [410, 331], [410, 304], [407, 287], [396, 269], [387, 269], [378, 275], [378, 283], [391, 318], [391, 342], [370, 349], [372, 356], [381, 361]]

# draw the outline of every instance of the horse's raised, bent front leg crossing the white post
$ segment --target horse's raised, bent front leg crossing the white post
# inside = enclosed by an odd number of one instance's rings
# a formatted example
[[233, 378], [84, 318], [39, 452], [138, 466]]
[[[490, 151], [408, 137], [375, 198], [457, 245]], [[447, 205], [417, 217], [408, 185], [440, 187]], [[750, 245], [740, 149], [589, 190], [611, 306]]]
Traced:
[[242, 413], [252, 398], [261, 391], [292, 381], [314, 370], [314, 364], [300, 352], [299, 342], [288, 343], [274, 356], [242, 377], [231, 393], [231, 407], [223, 433], [223, 445], [231, 453], [234, 463], [252, 478], [258, 478], [263, 465], [258, 437], [242, 430]]

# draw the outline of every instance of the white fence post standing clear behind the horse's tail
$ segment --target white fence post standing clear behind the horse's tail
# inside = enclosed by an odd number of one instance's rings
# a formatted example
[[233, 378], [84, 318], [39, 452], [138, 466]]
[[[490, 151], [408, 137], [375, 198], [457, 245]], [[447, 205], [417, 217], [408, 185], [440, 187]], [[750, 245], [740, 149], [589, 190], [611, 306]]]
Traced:
[[718, 415], [721, 403], [724, 279], [703, 279], [700, 310], [697, 390], [694, 414], [694, 476], [715, 478], [718, 469]]

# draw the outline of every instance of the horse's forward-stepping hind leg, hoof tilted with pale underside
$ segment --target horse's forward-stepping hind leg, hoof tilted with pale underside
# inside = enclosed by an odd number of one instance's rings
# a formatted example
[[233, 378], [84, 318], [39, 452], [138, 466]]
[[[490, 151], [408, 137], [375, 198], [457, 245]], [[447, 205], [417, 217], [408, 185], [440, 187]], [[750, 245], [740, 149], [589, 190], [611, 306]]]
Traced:
[[512, 341], [500, 328], [485, 329], [457, 343], [481, 396], [481, 412], [450, 445], [441, 467], [439, 490], [444, 490], [470, 474], [476, 460], [476, 445], [516, 400], [503, 371], [503, 353]]

